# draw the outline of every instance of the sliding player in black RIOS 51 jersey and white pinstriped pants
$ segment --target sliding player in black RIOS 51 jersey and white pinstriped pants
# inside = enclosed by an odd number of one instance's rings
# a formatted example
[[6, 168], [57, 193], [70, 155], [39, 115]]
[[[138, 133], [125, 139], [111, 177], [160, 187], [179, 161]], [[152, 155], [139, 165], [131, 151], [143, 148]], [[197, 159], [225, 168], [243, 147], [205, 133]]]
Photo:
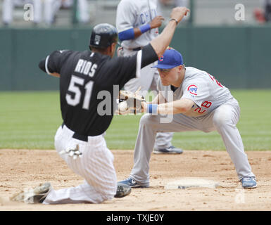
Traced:
[[[68, 167], [84, 178], [84, 184], [54, 190], [46, 183], [13, 196], [13, 200], [102, 203], [130, 194], [130, 186], [117, 185], [113, 154], [103, 138], [116, 109], [118, 93], [114, 95], [114, 85], [122, 89], [128, 80], [141, 75], [141, 68], [158, 60], [170, 44], [177, 23], [188, 11], [185, 7], [173, 8], [172, 20], [163, 32], [132, 57], [113, 58], [118, 32], [112, 25], [101, 24], [92, 30], [91, 51], [53, 51], [39, 63], [44, 72], [60, 77], [63, 124], [56, 132], [55, 146]], [[99, 105], [108, 93], [108, 105], [113, 107], [105, 115]]]

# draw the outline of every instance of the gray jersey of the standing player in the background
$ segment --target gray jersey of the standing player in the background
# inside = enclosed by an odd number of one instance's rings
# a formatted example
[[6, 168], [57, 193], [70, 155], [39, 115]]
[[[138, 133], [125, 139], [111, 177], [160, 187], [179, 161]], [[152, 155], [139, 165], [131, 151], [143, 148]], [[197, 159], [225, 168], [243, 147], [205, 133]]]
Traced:
[[[149, 4], [146, 4], [146, 2]], [[157, 0], [122, 0], [118, 4], [116, 27], [118, 32], [150, 23], [157, 15]], [[122, 41], [127, 49], [145, 46], [158, 35], [158, 28], [141, 34], [136, 39]]]

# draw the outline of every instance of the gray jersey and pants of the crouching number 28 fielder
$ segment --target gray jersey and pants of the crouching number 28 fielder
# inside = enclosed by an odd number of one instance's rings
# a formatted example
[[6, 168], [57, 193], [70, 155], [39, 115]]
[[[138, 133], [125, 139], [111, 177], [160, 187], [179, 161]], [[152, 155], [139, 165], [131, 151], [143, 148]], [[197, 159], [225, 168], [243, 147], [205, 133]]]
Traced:
[[255, 176], [244, 152], [241, 135], [236, 127], [240, 108], [238, 101], [208, 72], [188, 67], [182, 85], [172, 94], [170, 86], [158, 80], [158, 90], [167, 101], [189, 98], [194, 106], [188, 113], [175, 114], [171, 122], [162, 122], [161, 115], [145, 114], [141, 117], [137, 141], [134, 146], [134, 167], [130, 177], [139, 185], [149, 186], [149, 161], [156, 132], [218, 131], [229, 153], [239, 179]]

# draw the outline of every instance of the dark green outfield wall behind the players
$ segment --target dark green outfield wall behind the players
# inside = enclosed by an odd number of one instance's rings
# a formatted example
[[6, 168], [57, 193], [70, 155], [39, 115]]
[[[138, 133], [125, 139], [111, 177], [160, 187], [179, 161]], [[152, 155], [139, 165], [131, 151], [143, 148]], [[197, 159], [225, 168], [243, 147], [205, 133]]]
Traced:
[[[91, 28], [0, 29], [0, 91], [55, 90], [38, 68], [53, 50], [87, 49]], [[234, 89], [271, 88], [271, 26], [179, 27], [171, 46], [186, 66], [206, 70]]]

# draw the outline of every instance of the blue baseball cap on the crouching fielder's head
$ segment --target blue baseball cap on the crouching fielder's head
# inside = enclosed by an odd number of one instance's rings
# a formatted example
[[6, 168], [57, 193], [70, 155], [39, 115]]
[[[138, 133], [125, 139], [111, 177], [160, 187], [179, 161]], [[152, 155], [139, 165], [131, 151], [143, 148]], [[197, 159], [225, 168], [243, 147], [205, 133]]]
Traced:
[[160, 68], [160, 69], [171, 69], [175, 68], [178, 65], [183, 65], [184, 60], [182, 59], [182, 54], [175, 49], [167, 49], [163, 56], [158, 59], [158, 64], [153, 66], [152, 68]]

